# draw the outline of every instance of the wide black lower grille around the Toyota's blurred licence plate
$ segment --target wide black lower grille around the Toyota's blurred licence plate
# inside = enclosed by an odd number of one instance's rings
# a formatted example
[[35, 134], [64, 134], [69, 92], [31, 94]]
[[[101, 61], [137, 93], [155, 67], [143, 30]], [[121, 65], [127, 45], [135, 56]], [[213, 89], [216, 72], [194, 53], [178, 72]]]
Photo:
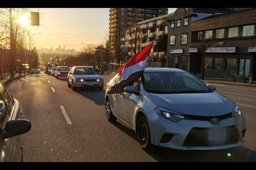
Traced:
[[217, 128], [192, 128], [187, 135], [183, 145], [185, 146], [220, 146], [238, 142], [239, 133], [235, 126], [224, 127], [226, 129], [226, 140], [209, 141], [209, 130]]

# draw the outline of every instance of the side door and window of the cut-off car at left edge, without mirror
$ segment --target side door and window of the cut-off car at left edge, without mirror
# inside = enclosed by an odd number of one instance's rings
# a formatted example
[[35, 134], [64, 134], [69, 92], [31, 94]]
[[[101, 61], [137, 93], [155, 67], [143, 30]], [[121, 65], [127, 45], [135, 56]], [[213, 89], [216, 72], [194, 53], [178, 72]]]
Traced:
[[[5, 128], [6, 122], [13, 119], [21, 119], [21, 108], [18, 103], [14, 103], [14, 99], [9, 91], [0, 83], [0, 127], [1, 132]], [[2, 134], [2, 133], [1, 133]], [[6, 162], [19, 162], [21, 156], [21, 147], [23, 142], [23, 134], [17, 135], [5, 140], [1, 140], [2, 151], [5, 151]]]

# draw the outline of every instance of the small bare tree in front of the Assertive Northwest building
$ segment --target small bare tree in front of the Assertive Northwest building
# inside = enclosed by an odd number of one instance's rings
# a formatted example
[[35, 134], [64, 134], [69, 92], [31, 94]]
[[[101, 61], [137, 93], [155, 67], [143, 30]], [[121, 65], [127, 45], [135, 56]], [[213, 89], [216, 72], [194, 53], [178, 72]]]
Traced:
[[[213, 31], [205, 31], [205, 36], [203, 36], [202, 31], [198, 31], [197, 38], [195, 38], [194, 41], [191, 41], [191, 44], [193, 44], [195, 47], [199, 48], [202, 52], [202, 63], [201, 63], [201, 76], [202, 80], [205, 78], [205, 52], [207, 51], [208, 48], [213, 45], [218, 37], [219, 37], [219, 32], [216, 31], [216, 34], [213, 35]], [[186, 40], [185, 40], [186, 39]], [[183, 39], [181, 41], [187, 41], [187, 37], [183, 36]]]

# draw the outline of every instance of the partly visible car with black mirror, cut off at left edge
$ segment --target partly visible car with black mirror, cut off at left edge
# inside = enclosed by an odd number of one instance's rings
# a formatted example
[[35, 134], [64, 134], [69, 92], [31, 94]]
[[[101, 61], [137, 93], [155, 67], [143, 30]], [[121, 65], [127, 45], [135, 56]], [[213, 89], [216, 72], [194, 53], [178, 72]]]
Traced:
[[23, 162], [24, 134], [31, 129], [19, 101], [0, 82], [0, 162]]

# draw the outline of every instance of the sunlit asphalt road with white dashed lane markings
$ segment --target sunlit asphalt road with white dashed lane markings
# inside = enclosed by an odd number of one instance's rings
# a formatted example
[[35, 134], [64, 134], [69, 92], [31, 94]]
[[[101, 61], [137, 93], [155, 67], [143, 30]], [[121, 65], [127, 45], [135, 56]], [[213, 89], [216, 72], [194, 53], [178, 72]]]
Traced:
[[[106, 86], [113, 76], [102, 77]], [[154, 147], [146, 152], [130, 128], [119, 120], [107, 121], [105, 90], [75, 92], [67, 87], [65, 78], [55, 79], [43, 72], [6, 86], [32, 123], [24, 138], [24, 162], [256, 162], [256, 88], [213, 85], [241, 107], [247, 123], [242, 147], [217, 151]]]

